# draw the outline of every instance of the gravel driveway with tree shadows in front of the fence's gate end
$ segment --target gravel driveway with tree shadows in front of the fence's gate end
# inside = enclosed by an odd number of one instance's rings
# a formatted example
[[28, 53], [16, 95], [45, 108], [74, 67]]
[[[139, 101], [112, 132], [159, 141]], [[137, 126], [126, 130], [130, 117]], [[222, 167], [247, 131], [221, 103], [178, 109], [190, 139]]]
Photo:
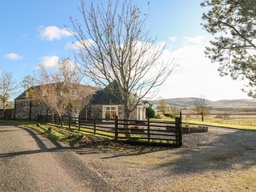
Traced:
[[256, 132], [209, 127], [183, 144], [74, 151], [120, 191], [256, 191]]

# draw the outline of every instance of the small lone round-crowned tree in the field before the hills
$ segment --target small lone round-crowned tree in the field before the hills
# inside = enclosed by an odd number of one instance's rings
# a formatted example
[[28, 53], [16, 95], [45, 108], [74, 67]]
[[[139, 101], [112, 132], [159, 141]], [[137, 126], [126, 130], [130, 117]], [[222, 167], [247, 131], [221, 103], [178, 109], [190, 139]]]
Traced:
[[210, 109], [207, 107], [207, 102], [204, 96], [196, 99], [194, 105], [191, 106], [191, 110], [196, 112], [198, 115], [201, 115], [202, 121], [204, 117], [210, 114]]

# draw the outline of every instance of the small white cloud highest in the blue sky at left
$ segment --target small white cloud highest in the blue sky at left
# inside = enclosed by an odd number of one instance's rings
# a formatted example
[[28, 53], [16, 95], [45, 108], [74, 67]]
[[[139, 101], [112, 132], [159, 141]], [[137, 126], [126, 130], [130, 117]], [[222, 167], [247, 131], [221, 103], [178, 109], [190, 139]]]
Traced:
[[60, 29], [56, 26], [39, 26], [39, 36], [44, 40], [58, 40], [71, 35], [72, 34], [66, 28]]

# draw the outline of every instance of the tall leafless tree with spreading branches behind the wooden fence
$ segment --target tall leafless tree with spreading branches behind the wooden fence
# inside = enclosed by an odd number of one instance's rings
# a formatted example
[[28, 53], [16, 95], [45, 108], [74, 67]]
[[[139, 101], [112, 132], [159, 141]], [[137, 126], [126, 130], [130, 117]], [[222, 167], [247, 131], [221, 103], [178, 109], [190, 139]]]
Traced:
[[[105, 2], [104, 2], [105, 3]], [[165, 46], [145, 30], [147, 15], [132, 0], [81, 1], [83, 23], [70, 17], [79, 54], [79, 70], [98, 87], [109, 86], [124, 104], [124, 119], [143, 98], [152, 98], [170, 75], [173, 61], [163, 61]]]

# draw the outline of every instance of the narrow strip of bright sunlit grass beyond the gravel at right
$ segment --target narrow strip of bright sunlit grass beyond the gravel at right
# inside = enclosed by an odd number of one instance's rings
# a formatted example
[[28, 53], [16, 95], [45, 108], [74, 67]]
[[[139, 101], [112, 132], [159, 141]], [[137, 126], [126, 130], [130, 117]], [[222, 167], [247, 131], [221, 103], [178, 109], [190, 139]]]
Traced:
[[[173, 121], [175, 119], [151, 119], [151, 120], [158, 120], [158, 121]], [[198, 124], [198, 125], [208, 125], [208, 126], [218, 126], [224, 128], [231, 128], [231, 129], [238, 129], [238, 130], [252, 130], [256, 131], [256, 126], [246, 126], [246, 125], [233, 125], [233, 124], [224, 124], [224, 123], [214, 123], [214, 122], [207, 122], [207, 121], [194, 121], [194, 120], [183, 120], [183, 123], [188, 124]]]

